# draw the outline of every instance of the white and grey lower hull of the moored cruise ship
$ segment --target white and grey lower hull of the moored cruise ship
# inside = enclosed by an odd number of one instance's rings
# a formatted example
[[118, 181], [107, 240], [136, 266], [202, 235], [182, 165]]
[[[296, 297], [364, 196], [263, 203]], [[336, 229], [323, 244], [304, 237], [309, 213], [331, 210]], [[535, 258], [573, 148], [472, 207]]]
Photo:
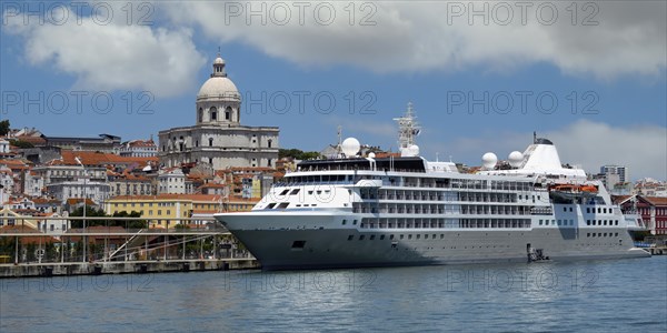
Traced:
[[[527, 262], [528, 249], [551, 261], [650, 256], [621, 228], [359, 229], [345, 212], [216, 214], [263, 270]], [[348, 221], [352, 221], [350, 215]], [[267, 225], [272, 225], [267, 228]], [[618, 236], [581, 236], [581, 233]], [[402, 239], [401, 239], [402, 236]]]

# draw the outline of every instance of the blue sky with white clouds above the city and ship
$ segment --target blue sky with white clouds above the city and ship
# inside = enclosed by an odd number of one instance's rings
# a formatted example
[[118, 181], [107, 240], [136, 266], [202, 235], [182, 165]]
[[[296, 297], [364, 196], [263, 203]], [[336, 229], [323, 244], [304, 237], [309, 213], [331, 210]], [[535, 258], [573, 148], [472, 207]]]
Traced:
[[550, 139], [561, 161], [667, 180], [665, 1], [2, 1], [0, 119], [148, 139], [196, 122], [220, 51], [241, 123], [280, 147], [397, 148], [479, 165]]

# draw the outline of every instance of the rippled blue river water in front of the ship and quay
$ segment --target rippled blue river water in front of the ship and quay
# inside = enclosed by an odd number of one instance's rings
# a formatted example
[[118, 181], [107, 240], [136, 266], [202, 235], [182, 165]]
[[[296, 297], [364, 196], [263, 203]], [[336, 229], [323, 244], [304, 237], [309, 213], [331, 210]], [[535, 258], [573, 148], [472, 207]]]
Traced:
[[667, 256], [0, 280], [0, 332], [667, 332]]

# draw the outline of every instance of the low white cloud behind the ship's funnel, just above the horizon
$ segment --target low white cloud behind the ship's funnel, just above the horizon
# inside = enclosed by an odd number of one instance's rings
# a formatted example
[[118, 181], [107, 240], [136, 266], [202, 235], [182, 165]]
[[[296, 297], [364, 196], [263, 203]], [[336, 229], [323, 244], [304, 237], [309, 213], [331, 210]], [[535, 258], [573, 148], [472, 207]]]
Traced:
[[[491, 151], [499, 159], [531, 143], [532, 133], [482, 133], [476, 138], [459, 138], [451, 144], [435, 144], [429, 154], [439, 151], [464, 159], [472, 165], [481, 154]], [[613, 127], [603, 122], [579, 120], [559, 130], [538, 133], [556, 144], [560, 161], [579, 165], [588, 173], [598, 173], [601, 165], [626, 165], [630, 179], [650, 176], [667, 180], [667, 128], [658, 125]]]

